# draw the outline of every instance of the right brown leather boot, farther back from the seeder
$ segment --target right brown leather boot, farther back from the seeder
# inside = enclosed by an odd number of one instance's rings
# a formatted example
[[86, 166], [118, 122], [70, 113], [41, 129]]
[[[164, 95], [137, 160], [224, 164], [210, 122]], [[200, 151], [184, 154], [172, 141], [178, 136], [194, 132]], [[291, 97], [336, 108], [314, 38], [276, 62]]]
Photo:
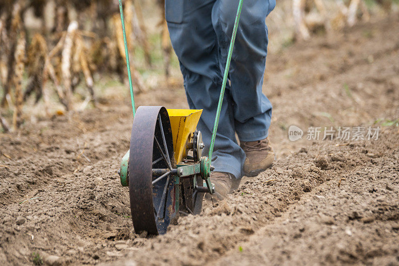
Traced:
[[268, 137], [257, 141], [241, 141], [240, 147], [245, 151], [244, 174], [257, 176], [270, 168], [275, 159], [275, 154], [270, 146]]

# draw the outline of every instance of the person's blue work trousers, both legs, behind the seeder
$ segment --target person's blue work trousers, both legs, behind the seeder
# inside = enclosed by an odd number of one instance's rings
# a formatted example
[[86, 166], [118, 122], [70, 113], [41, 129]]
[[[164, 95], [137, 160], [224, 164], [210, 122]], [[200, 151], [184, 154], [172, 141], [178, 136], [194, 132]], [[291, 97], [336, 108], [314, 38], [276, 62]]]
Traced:
[[[242, 176], [245, 153], [237, 143], [268, 135], [271, 104], [262, 93], [267, 54], [265, 18], [275, 0], [243, 0], [212, 156], [215, 171]], [[198, 129], [207, 154], [238, 0], [166, 0], [172, 46], [187, 101], [203, 109]]]

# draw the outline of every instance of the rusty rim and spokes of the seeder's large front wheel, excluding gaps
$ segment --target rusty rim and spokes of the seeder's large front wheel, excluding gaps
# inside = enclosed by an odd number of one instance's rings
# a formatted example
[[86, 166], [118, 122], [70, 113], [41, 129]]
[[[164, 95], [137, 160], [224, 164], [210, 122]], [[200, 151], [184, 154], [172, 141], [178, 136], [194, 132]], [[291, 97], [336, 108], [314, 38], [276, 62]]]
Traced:
[[[163, 220], [158, 219], [156, 222], [154, 209], [161, 204], [159, 201], [159, 191], [164, 191], [167, 185], [166, 180], [157, 182], [158, 186], [164, 187], [153, 188], [152, 169], [168, 168], [165, 160], [156, 162], [153, 166], [153, 161], [161, 157], [161, 153], [157, 150], [154, 136], [162, 141], [160, 127], [157, 127], [157, 119], [160, 115], [162, 126], [165, 133], [165, 140], [168, 146], [169, 158], [172, 163], [172, 168], [176, 168], [173, 154], [172, 131], [169, 122], [169, 117], [166, 109], [160, 106], [141, 106], [137, 109], [136, 116], [133, 121], [132, 134], [130, 139], [130, 156], [129, 156], [129, 195], [130, 195], [130, 210], [132, 214], [133, 227], [136, 233], [147, 231], [149, 234], [157, 235], [165, 233], [166, 227], [169, 225], [170, 216], [175, 215], [175, 208], [173, 210], [164, 210], [168, 217]], [[168, 178], [169, 180], [169, 178]], [[169, 202], [174, 202], [175, 187], [168, 187], [168, 205]], [[165, 197], [164, 197], [165, 198]], [[155, 202], [154, 202], [155, 201]], [[154, 204], [155, 203], [155, 204]], [[157, 205], [158, 204], [158, 205]], [[162, 203], [164, 204], [164, 203]], [[164, 225], [165, 223], [168, 223]], [[164, 232], [165, 231], [165, 232]]]

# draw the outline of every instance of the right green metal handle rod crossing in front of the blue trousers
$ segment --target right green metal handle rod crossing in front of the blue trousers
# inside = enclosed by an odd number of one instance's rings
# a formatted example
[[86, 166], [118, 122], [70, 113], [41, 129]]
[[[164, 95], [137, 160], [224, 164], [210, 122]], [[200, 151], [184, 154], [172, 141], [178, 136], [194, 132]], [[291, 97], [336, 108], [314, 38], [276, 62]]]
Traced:
[[226, 88], [227, 75], [228, 75], [228, 70], [230, 68], [231, 55], [233, 54], [235, 35], [237, 33], [238, 21], [240, 19], [240, 14], [241, 14], [241, 8], [242, 8], [242, 0], [240, 0], [238, 2], [238, 9], [237, 9], [237, 14], [235, 16], [233, 33], [231, 36], [230, 46], [228, 47], [227, 62], [226, 62], [226, 67], [224, 68], [224, 76], [223, 76], [223, 82], [222, 82], [221, 90], [220, 90], [219, 103], [217, 104], [215, 124], [213, 125], [212, 139], [210, 141], [210, 146], [209, 146], [209, 155], [208, 155], [209, 165], [210, 165], [210, 161], [212, 160], [213, 145], [215, 143], [217, 125], [219, 124], [221, 104], [223, 102], [224, 89]]

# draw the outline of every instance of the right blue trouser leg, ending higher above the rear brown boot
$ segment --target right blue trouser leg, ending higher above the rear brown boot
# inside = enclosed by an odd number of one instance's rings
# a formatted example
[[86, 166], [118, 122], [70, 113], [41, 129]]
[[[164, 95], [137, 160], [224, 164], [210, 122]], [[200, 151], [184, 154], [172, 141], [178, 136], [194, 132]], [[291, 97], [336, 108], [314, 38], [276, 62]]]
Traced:
[[[235, 131], [240, 141], [268, 135], [272, 107], [262, 93], [268, 43], [265, 18], [275, 4], [275, 0], [243, 1], [229, 71]], [[217, 0], [212, 10], [223, 70], [237, 6], [238, 0]]]

